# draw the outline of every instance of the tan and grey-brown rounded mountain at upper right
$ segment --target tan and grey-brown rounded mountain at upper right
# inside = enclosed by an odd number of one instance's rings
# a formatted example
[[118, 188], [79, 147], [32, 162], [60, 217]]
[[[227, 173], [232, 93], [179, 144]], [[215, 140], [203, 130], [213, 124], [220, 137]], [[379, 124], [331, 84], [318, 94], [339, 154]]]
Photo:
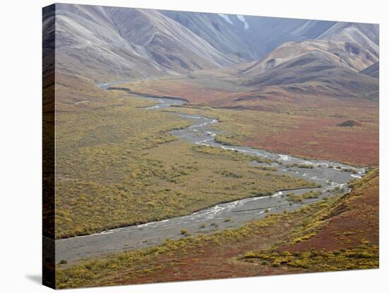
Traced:
[[378, 62], [377, 34], [378, 25], [336, 23], [317, 40], [285, 42], [240, 76], [246, 86], [376, 100], [378, 81], [359, 71]]

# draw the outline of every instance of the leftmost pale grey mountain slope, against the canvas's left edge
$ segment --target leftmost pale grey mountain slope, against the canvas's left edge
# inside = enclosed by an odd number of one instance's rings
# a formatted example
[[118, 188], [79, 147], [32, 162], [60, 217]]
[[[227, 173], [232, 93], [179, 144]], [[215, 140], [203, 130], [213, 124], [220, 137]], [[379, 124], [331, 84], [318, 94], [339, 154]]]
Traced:
[[127, 42], [99, 6], [56, 4], [56, 69], [92, 79], [158, 74], [141, 47]]

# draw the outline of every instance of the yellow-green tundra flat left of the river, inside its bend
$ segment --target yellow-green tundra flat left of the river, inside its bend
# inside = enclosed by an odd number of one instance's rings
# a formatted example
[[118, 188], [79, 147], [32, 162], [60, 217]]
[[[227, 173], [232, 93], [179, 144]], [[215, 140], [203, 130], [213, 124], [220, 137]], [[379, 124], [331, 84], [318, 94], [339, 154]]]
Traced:
[[149, 101], [107, 95], [109, 106], [88, 103], [86, 110], [77, 103], [57, 111], [57, 238], [315, 187], [250, 165], [269, 160], [178, 141], [169, 130], [191, 121], [146, 110]]

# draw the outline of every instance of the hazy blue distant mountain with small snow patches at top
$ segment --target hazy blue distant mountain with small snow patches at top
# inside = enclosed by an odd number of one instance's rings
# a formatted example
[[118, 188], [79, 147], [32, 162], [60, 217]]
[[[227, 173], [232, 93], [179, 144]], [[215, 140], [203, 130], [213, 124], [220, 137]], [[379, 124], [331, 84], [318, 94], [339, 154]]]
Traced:
[[246, 62], [261, 59], [284, 42], [318, 38], [335, 25], [333, 21], [293, 18], [185, 11], [161, 13], [207, 40], [217, 50], [236, 54]]

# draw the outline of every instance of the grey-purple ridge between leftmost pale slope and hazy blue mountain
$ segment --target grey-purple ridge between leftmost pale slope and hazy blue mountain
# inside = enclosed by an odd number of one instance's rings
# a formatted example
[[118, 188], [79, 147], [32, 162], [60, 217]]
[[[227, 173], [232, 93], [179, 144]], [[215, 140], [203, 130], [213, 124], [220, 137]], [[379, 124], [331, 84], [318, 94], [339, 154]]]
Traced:
[[149, 57], [164, 67], [169, 68], [164, 62], [180, 64], [184, 69], [223, 67], [238, 62], [159, 11], [114, 7], [105, 10], [124, 39], [145, 48]]

